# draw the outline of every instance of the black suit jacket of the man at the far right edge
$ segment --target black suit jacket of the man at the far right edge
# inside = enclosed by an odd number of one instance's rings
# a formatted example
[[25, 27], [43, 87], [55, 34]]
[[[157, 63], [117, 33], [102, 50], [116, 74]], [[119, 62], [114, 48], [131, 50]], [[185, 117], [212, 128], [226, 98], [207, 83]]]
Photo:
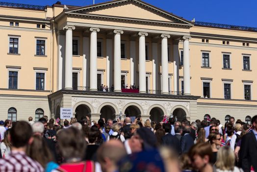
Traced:
[[257, 140], [253, 132], [243, 136], [239, 151], [239, 166], [250, 172], [251, 166], [257, 171]]

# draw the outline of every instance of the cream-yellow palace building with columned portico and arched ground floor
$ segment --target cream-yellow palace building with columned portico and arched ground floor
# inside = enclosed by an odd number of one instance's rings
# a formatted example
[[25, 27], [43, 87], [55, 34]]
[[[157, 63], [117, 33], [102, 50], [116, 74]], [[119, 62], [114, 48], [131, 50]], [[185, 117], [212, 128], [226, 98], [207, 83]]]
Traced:
[[0, 38], [0, 119], [60, 108], [92, 120], [257, 115], [257, 28], [191, 22], [141, 0], [0, 2]]

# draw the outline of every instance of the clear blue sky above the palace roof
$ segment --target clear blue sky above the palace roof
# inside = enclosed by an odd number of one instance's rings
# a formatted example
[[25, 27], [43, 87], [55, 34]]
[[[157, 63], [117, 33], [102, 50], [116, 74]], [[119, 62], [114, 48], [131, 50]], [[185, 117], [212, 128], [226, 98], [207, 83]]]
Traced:
[[[0, 0], [34, 5], [52, 5], [57, 0]], [[66, 5], [91, 5], [93, 0], [59, 0]], [[95, 0], [95, 3], [108, 0]], [[144, 0], [187, 20], [257, 28], [257, 0]]]

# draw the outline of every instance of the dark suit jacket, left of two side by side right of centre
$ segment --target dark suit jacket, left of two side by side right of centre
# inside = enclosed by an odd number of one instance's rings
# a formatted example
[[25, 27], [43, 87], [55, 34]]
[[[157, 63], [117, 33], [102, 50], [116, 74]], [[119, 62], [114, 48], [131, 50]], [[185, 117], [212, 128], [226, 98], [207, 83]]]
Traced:
[[166, 134], [161, 138], [161, 144], [171, 147], [180, 154], [180, 141], [176, 136], [173, 136], [170, 133]]

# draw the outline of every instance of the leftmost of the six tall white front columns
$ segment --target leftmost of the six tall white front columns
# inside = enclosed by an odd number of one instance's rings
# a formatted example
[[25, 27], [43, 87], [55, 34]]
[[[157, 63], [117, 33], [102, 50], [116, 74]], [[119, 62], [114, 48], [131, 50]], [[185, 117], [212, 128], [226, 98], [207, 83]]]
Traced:
[[65, 26], [66, 40], [65, 40], [65, 89], [72, 88], [72, 30], [75, 26]]

